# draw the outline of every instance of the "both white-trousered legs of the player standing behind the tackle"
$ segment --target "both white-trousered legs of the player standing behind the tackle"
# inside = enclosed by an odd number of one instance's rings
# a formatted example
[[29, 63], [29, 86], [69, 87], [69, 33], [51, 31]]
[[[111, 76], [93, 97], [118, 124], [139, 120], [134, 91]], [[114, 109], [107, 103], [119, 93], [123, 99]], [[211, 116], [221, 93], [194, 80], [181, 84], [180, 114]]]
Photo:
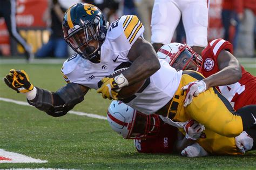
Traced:
[[171, 43], [182, 16], [186, 43], [198, 54], [207, 45], [208, 0], [156, 0], [151, 20], [151, 43], [158, 51]]

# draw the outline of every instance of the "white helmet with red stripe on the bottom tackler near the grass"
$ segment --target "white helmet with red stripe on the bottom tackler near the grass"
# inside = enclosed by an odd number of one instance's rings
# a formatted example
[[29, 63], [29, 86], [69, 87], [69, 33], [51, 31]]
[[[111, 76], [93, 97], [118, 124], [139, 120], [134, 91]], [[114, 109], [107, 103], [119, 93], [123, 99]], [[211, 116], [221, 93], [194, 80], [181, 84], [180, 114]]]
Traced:
[[159, 133], [157, 114], [140, 113], [122, 101], [112, 101], [107, 111], [107, 121], [125, 139], [153, 138]]

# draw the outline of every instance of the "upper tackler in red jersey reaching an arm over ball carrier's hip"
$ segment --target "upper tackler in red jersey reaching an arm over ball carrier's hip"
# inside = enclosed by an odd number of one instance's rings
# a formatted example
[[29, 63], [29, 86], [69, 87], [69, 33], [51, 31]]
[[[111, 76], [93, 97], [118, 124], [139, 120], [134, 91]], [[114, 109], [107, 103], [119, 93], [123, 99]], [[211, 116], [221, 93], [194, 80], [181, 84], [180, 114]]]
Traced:
[[193, 96], [218, 86], [221, 94], [238, 110], [256, 104], [256, 77], [247, 72], [232, 53], [232, 44], [219, 38], [206, 46], [201, 57], [190, 46], [180, 43], [162, 46], [158, 57], [165, 59], [176, 70], [199, 71], [206, 77], [183, 87], [188, 91], [185, 106], [191, 103]]

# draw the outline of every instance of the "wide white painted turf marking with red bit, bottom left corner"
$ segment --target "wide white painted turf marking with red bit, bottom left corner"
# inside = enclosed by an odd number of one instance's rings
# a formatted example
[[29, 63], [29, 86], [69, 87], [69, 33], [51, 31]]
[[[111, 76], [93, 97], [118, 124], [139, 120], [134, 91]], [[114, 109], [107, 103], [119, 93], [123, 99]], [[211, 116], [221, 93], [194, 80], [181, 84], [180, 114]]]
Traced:
[[27, 157], [23, 154], [4, 151], [0, 149], [0, 164], [1, 163], [46, 163], [46, 160]]

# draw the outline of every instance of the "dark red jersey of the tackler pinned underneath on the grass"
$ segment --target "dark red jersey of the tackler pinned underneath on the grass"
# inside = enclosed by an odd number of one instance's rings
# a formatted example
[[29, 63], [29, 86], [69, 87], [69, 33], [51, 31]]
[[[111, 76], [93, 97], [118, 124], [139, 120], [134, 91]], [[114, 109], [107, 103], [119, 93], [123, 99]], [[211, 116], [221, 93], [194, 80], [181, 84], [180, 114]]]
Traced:
[[160, 130], [156, 138], [135, 139], [134, 145], [141, 153], [172, 153], [177, 140], [178, 129], [160, 120]]

